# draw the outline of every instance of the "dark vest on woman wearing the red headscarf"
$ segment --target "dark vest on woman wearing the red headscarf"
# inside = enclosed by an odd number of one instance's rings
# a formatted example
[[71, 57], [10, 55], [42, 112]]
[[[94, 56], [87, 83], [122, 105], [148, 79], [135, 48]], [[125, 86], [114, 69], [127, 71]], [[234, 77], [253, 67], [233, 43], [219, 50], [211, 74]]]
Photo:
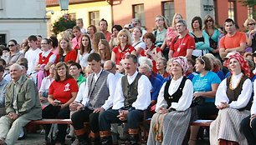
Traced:
[[[238, 96], [241, 94], [241, 92], [242, 92], [242, 87], [243, 87], [243, 82], [247, 79], [248, 77], [246, 77], [245, 75], [243, 75], [243, 77], [242, 77], [242, 79], [241, 79], [241, 81], [239, 82], [239, 84], [238, 84], [238, 87], [236, 87], [235, 89], [230, 89], [229, 88], [229, 83], [230, 83], [230, 81], [231, 81], [231, 76], [229, 76], [228, 78], [227, 78], [227, 96], [228, 96], [228, 99], [229, 99], [229, 102], [228, 103], [230, 103], [230, 102], [232, 102], [232, 101], [237, 101], [238, 100]], [[240, 109], [238, 109], [238, 110], [240, 110], [240, 111], [243, 111], [244, 109], [250, 109], [250, 106], [251, 106], [252, 104], [251, 104], [251, 101], [249, 101], [248, 102], [248, 104], [247, 104], [247, 106], [246, 107], [243, 107], [243, 108], [240, 108]]]

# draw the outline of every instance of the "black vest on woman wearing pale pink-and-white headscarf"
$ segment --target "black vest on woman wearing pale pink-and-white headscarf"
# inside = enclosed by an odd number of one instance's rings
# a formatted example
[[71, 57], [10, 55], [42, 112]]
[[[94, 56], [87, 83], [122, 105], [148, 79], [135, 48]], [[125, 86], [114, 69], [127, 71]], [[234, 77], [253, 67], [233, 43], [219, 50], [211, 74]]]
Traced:
[[179, 99], [182, 97], [182, 90], [185, 86], [186, 80], [187, 80], [187, 77], [182, 78], [182, 82], [181, 82], [180, 86], [178, 87], [177, 91], [174, 92], [172, 95], [170, 95], [169, 92], [168, 92], [168, 89], [169, 89], [169, 86], [170, 86], [170, 83], [171, 83], [172, 79], [170, 79], [169, 81], [166, 82], [164, 97], [165, 97], [165, 100], [168, 104], [167, 108], [171, 107], [172, 102], [178, 102]]

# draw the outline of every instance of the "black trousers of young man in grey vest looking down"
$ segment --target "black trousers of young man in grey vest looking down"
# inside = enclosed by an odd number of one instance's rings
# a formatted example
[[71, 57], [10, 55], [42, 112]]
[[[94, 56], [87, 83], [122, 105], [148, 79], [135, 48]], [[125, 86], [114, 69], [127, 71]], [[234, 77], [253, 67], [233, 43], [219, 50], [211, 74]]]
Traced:
[[93, 133], [99, 133], [99, 114], [99, 112], [94, 112], [87, 107], [84, 110], [74, 112], [71, 116], [74, 129], [82, 129], [84, 128], [84, 122], [89, 122], [91, 131]]

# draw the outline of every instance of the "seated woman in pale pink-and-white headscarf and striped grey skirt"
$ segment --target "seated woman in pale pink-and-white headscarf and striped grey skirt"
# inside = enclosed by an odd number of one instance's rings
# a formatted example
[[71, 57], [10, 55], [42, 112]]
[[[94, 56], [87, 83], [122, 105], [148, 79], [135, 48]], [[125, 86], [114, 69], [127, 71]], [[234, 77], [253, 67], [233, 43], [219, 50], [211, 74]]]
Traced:
[[192, 114], [192, 82], [183, 77], [187, 72], [187, 58], [172, 61], [172, 79], [159, 92], [156, 114], [152, 117], [148, 145], [182, 144]]

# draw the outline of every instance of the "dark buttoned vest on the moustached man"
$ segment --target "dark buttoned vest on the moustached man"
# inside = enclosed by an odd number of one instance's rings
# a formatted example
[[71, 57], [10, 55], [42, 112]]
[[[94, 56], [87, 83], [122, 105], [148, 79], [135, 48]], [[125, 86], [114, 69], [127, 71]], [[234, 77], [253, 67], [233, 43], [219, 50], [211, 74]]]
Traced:
[[138, 96], [138, 82], [141, 78], [141, 73], [138, 73], [135, 80], [129, 84], [127, 75], [121, 78], [122, 91], [125, 97], [125, 109], [131, 107], [133, 102], [136, 102]]

